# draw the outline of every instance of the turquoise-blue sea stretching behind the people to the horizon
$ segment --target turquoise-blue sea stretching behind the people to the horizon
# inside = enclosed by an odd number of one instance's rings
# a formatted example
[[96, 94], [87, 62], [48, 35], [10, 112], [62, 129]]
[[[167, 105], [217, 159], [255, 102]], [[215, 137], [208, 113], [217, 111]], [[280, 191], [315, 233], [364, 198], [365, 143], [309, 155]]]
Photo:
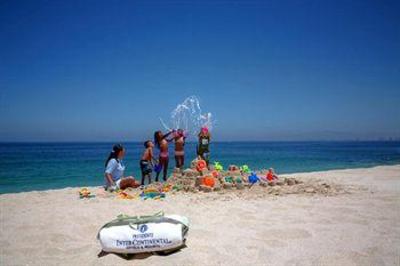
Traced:
[[[124, 143], [127, 175], [139, 177], [142, 143]], [[112, 143], [0, 143], [0, 193], [103, 184]], [[186, 166], [195, 144], [186, 145]], [[400, 142], [216, 142], [212, 161], [278, 173], [400, 163]], [[174, 159], [170, 157], [170, 167]]]

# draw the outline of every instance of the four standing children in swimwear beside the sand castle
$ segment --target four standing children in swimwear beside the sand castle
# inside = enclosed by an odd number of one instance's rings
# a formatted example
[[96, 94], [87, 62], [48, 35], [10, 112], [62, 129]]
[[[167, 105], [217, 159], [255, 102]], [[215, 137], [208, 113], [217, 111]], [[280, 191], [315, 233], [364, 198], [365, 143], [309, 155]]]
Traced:
[[[143, 186], [145, 180], [151, 183], [151, 176], [153, 170], [156, 172], [155, 181], [158, 182], [160, 173], [163, 173], [163, 180], [167, 180], [168, 164], [169, 164], [169, 142], [175, 143], [175, 167], [183, 168], [185, 163], [185, 140], [186, 132], [182, 129], [171, 130], [166, 134], [162, 131], [154, 133], [154, 142], [147, 140], [144, 143], [145, 150], [140, 160], [140, 169], [142, 173], [141, 185]], [[205, 160], [207, 165], [209, 163], [210, 150], [209, 145], [211, 141], [211, 134], [207, 127], [202, 127], [198, 134], [199, 143], [197, 145], [197, 156]], [[154, 156], [154, 147], [159, 150], [158, 159]]]

